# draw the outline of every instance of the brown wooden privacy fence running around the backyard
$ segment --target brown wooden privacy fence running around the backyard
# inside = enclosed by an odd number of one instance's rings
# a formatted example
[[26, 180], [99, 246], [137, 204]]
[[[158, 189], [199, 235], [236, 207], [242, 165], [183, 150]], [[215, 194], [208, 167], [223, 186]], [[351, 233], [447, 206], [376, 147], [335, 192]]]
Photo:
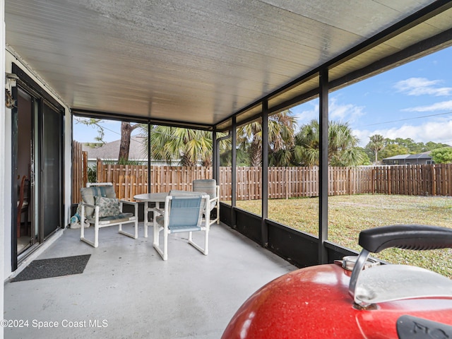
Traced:
[[[76, 153], [74, 151], [74, 153]], [[78, 170], [76, 164], [74, 170]], [[133, 200], [136, 194], [167, 192], [171, 189], [191, 191], [194, 179], [212, 178], [211, 167], [104, 165], [97, 160], [97, 181], [113, 182], [117, 197]], [[81, 176], [83, 177], [83, 176]], [[261, 167], [237, 167], [237, 200], [261, 199]], [[75, 180], [73, 196], [78, 202], [84, 179]], [[220, 167], [220, 199], [232, 198], [231, 167]], [[78, 187], [76, 187], [79, 185]], [[84, 184], [83, 184], [84, 185]], [[452, 196], [452, 164], [330, 167], [328, 195], [404, 194]], [[268, 168], [268, 197], [296, 198], [319, 196], [318, 167]]]

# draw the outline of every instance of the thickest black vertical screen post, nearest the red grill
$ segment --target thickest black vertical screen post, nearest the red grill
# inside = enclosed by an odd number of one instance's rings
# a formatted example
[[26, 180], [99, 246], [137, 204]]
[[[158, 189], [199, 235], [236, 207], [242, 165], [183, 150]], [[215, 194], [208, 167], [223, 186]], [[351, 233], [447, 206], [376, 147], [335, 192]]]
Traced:
[[328, 240], [328, 69], [319, 74], [319, 264], [328, 263], [325, 242]]

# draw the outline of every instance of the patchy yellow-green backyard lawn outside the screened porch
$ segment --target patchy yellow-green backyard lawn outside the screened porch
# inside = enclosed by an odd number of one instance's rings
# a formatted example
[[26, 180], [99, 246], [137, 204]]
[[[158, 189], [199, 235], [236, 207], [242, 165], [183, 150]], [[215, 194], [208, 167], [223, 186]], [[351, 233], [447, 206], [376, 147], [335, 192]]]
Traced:
[[[237, 201], [237, 207], [261, 214], [261, 201]], [[315, 236], [319, 198], [268, 201], [268, 218]], [[357, 251], [361, 230], [393, 224], [424, 224], [452, 228], [452, 197], [356, 195], [328, 197], [328, 240]], [[388, 249], [375, 255], [390, 263], [434, 270], [452, 278], [452, 249], [408, 251]]]

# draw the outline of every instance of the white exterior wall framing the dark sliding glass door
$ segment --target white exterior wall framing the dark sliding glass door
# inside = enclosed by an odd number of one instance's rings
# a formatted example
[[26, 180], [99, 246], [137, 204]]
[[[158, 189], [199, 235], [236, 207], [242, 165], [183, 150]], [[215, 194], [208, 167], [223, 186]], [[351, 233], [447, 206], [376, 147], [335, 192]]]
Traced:
[[[3, 3], [3, 1], [2, 1]], [[3, 12], [2, 12], [3, 13]], [[4, 32], [4, 30], [1, 30], [1, 32]], [[4, 44], [5, 46], [5, 44]], [[28, 74], [34, 81], [36, 81], [42, 88], [47, 89], [49, 88], [48, 85], [44, 85], [44, 83], [38, 78], [33, 71], [31, 71], [28, 68], [28, 64], [26, 64], [25, 61], [23, 61], [20, 56], [10, 47], [6, 47], [6, 50], [3, 50], [4, 52], [4, 59], [1, 61], [1, 66], [5, 67], [4, 72], [11, 73], [12, 71], [12, 63], [14, 62], [17, 64], [20, 69], [23, 69], [25, 73]], [[4, 74], [4, 73], [3, 73]], [[4, 81], [2, 81], [4, 83]], [[4, 88], [4, 85], [3, 85]], [[69, 107], [59, 100], [57, 95], [54, 95], [54, 93], [49, 93], [52, 95], [52, 97], [55, 98], [63, 107], [65, 107], [65, 114], [64, 114], [64, 224], [68, 225], [69, 220], [71, 218], [71, 145], [72, 145], [72, 124], [71, 124], [71, 112], [69, 110]], [[4, 97], [2, 95], [2, 97]], [[4, 99], [3, 99], [4, 100]], [[2, 115], [2, 119], [0, 120], [0, 138], [1, 143], [4, 143], [4, 148], [2, 149], [2, 145], [0, 143], [0, 156], [2, 159], [5, 159], [4, 162], [1, 162], [0, 167], [0, 174], [1, 174], [1, 182], [4, 184], [1, 184], [0, 194], [1, 197], [4, 199], [3, 203], [0, 201], [0, 206], [3, 208], [5, 206], [5, 213], [0, 213], [1, 222], [4, 225], [4, 239], [1, 239], [1, 243], [4, 244], [3, 251], [3, 258], [4, 258], [4, 268], [2, 268], [2, 273], [4, 273], [4, 280], [8, 278], [11, 275], [11, 210], [13, 210], [13, 205], [11, 201], [11, 174], [12, 174], [12, 168], [11, 168], [11, 109], [5, 109], [4, 103], [1, 104], [1, 109], [3, 111], [6, 110], [6, 114]], [[4, 118], [4, 119], [3, 119]], [[3, 172], [2, 172], [3, 171]], [[1, 227], [1, 223], [0, 223]], [[0, 228], [1, 231], [1, 228]], [[2, 293], [3, 295], [3, 293]]]

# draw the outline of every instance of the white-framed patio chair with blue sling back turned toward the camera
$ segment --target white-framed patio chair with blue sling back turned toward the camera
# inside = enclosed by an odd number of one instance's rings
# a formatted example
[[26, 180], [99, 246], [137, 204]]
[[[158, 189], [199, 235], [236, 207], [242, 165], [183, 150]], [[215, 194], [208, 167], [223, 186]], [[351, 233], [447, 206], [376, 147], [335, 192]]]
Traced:
[[[168, 260], [168, 235], [172, 233], [188, 232], [189, 244], [195, 249], [208, 255], [209, 217], [203, 222], [203, 213], [209, 201], [207, 194], [193, 194], [193, 192], [172, 191], [165, 198], [165, 210], [154, 208], [154, 241], [153, 246], [163, 260]], [[209, 214], [209, 213], [207, 213]], [[163, 232], [163, 249], [160, 248], [160, 232]], [[192, 239], [192, 232], [204, 231], [204, 248]]]

